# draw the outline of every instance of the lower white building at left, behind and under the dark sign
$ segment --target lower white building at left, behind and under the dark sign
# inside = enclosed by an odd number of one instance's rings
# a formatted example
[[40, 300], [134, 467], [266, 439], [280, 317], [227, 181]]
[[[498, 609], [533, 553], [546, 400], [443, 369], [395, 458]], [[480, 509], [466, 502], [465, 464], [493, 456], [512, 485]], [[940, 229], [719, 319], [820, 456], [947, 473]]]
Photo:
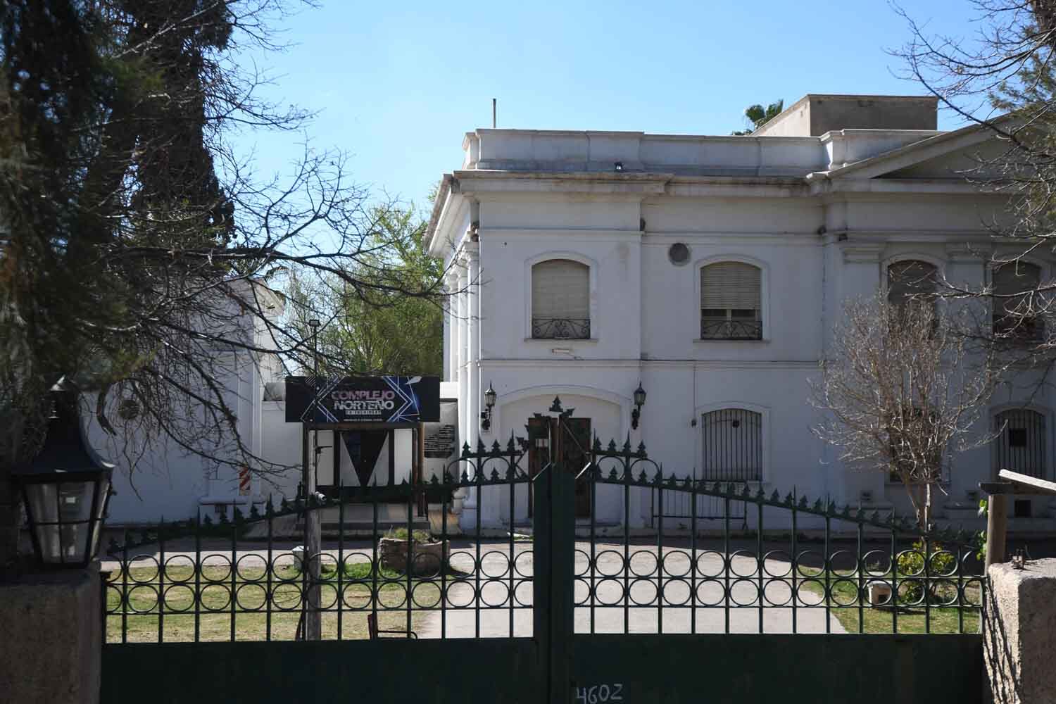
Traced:
[[[263, 306], [263, 315], [272, 322], [282, 316], [285, 301], [281, 294], [258, 285], [256, 299]], [[247, 340], [250, 348], [275, 348], [271, 332], [262, 320], [246, 313], [232, 321], [233, 329], [219, 337], [234, 338], [245, 332], [247, 337], [253, 336]], [[301, 423], [287, 422], [284, 394], [290, 370], [277, 355], [216, 349], [211, 369], [225, 391], [225, 403], [237, 417], [239, 438], [254, 457], [268, 465], [232, 467], [205, 460], [164, 438], [147, 442], [144, 433], [125, 432], [128, 427], [118, 420], [121, 399], [111, 398], [109, 415], [118, 425], [116, 436], [105, 433], [94, 415], [83, 414], [90, 441], [100, 455], [117, 465], [113, 476], [116, 493], [108, 508], [110, 526], [152, 525], [162, 519], [187, 520], [195, 516], [215, 519], [220, 514], [231, 518], [235, 507], [245, 515], [253, 506], [263, 509], [269, 499], [275, 506], [284, 498], [293, 500], [303, 478], [305, 443], [317, 490], [331, 498], [340, 494], [342, 488], [355, 489], [362, 483], [412, 481], [417, 465], [416, 431], [422, 434], [425, 457], [420, 461], [427, 479], [442, 473], [449, 462], [448, 455], [457, 444], [455, 403], [451, 401], [440, 403], [438, 422], [427, 422], [420, 427], [412, 429], [410, 423], [398, 429], [383, 423], [372, 427], [371, 423], [362, 423], [350, 430], [308, 432], [305, 438]], [[454, 389], [442, 384], [440, 394], [448, 398]], [[128, 425], [135, 427], [136, 420], [129, 418]], [[214, 437], [205, 441], [212, 443]], [[210, 444], [207, 454], [232, 460], [240, 457], [233, 442], [230, 448]], [[402, 506], [382, 507], [382, 520], [389, 519], [390, 509], [395, 516], [407, 515]]]

